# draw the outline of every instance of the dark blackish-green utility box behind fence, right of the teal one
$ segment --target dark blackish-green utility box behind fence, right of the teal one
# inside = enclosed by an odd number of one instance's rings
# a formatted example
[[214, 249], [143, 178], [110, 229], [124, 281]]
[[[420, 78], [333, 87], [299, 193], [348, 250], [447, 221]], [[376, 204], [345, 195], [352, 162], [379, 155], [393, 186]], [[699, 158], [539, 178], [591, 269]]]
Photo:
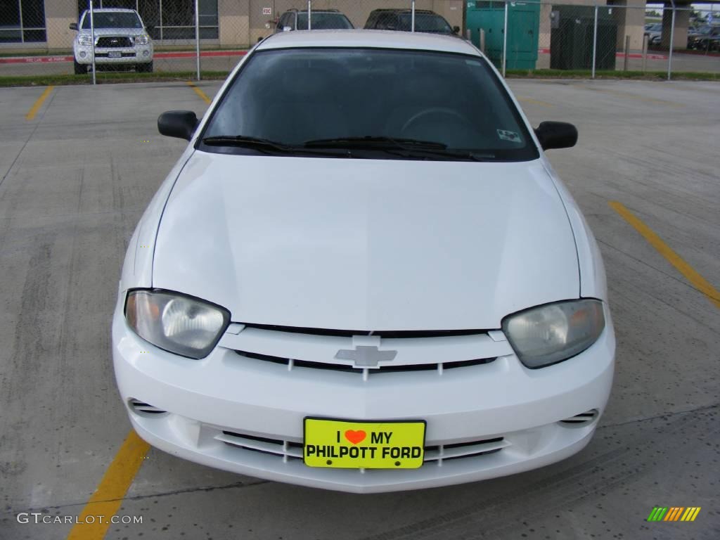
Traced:
[[[615, 69], [618, 25], [612, 7], [598, 6], [598, 42], [595, 69]], [[593, 67], [595, 7], [553, 6], [550, 12], [550, 68]]]

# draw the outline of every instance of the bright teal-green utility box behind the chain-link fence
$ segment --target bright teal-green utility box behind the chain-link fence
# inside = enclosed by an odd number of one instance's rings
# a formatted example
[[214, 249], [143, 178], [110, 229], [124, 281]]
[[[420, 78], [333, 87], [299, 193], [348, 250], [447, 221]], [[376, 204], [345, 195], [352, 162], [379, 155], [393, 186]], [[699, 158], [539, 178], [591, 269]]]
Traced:
[[[480, 30], [485, 30], [485, 54], [499, 68], [503, 63], [505, 2], [467, 2], [465, 25], [466, 30], [470, 30], [470, 39], [476, 47], [480, 47]], [[538, 60], [539, 26], [539, 2], [508, 2], [506, 68], [535, 69]]]

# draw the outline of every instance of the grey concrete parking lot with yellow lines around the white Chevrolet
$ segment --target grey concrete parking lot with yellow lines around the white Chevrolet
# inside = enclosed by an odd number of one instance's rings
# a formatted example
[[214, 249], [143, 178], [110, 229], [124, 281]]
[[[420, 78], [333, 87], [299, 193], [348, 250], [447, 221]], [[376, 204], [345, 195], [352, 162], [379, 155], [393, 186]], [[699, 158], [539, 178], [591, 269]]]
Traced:
[[[720, 538], [719, 84], [510, 81], [534, 125], [580, 132], [549, 158], [604, 256], [618, 338], [608, 410], [563, 462], [383, 495], [241, 477], [126, 441], [109, 351], [120, 266], [184, 149], [156, 120], [202, 114], [219, 86], [0, 89], [0, 539], [99, 539], [104, 528], [17, 516], [108, 511], [143, 517], [109, 526], [118, 540]], [[654, 506], [701, 511], [649, 523]]]

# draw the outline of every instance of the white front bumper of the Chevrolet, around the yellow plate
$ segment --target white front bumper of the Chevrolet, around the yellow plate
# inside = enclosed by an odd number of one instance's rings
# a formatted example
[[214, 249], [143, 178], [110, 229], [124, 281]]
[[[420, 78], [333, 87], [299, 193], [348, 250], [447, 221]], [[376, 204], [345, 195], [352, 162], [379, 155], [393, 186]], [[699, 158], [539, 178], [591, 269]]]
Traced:
[[[544, 369], [526, 369], [508, 345], [509, 354], [488, 364], [364, 380], [238, 356], [232, 347], [237, 336], [228, 334], [206, 359], [180, 358], [135, 335], [119, 302], [113, 357], [132, 425], [170, 454], [329, 490], [414, 490], [542, 467], [588, 444], [613, 379], [615, 338], [607, 311], [606, 321], [603, 335], [587, 351]], [[166, 412], [143, 413], [130, 400]], [[596, 414], [586, 423], [562, 422], [590, 410]], [[305, 416], [426, 420], [426, 462], [403, 470], [307, 467]]]

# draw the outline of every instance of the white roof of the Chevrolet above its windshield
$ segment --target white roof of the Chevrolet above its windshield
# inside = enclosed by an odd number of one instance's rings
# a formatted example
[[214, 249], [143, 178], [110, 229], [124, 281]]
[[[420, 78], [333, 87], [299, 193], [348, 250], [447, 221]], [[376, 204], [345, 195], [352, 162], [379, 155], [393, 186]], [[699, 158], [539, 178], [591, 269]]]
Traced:
[[454, 36], [392, 30], [299, 30], [280, 32], [261, 41], [256, 50], [354, 47], [374, 49], [436, 50], [481, 56], [469, 42]]

